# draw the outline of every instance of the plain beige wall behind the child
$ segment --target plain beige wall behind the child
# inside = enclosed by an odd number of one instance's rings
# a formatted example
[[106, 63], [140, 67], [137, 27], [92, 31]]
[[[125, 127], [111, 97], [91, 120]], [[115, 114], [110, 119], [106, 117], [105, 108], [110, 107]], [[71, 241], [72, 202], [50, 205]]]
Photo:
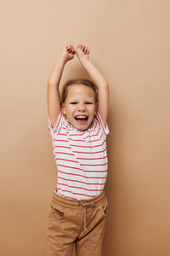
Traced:
[[[0, 255], [45, 256], [56, 182], [47, 79], [64, 44], [88, 45], [110, 84], [105, 256], [170, 255], [170, 2], [1, 4]], [[65, 79], [86, 74], [77, 58]]]

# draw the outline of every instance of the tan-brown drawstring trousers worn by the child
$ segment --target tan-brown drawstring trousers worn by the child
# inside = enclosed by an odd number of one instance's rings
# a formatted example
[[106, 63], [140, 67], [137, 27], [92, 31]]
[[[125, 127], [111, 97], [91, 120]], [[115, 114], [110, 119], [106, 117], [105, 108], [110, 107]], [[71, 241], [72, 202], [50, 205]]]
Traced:
[[105, 190], [90, 200], [54, 193], [48, 215], [47, 256], [101, 256], [108, 201]]

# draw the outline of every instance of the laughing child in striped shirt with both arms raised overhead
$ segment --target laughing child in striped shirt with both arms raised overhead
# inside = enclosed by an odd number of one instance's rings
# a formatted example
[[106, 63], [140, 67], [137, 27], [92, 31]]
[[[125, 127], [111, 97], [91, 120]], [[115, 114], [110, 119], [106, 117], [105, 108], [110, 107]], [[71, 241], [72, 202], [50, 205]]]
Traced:
[[[92, 80], [71, 79], [59, 96], [67, 61], [77, 55]], [[106, 136], [109, 85], [89, 49], [65, 45], [48, 78], [48, 129], [58, 170], [48, 215], [48, 256], [100, 256], [108, 201]]]

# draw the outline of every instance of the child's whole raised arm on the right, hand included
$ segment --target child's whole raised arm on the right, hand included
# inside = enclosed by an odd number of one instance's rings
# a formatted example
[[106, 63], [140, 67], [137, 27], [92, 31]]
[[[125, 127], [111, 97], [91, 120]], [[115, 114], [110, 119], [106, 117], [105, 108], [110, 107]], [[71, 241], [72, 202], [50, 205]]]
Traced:
[[94, 80], [98, 89], [98, 112], [106, 125], [108, 108], [109, 108], [109, 84], [99, 70], [94, 67], [94, 64], [89, 61], [89, 49], [83, 44], [78, 44], [76, 49], [77, 57], [86, 69], [90, 77]]

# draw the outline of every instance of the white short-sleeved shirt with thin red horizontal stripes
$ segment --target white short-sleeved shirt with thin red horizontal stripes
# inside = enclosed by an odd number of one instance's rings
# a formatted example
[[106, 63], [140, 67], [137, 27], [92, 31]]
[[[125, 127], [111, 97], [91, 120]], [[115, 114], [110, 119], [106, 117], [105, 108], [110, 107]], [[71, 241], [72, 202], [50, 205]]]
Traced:
[[92, 199], [103, 191], [108, 172], [108, 125], [97, 112], [86, 131], [78, 131], [59, 113], [53, 128], [48, 118], [58, 177], [54, 192], [71, 200]]

